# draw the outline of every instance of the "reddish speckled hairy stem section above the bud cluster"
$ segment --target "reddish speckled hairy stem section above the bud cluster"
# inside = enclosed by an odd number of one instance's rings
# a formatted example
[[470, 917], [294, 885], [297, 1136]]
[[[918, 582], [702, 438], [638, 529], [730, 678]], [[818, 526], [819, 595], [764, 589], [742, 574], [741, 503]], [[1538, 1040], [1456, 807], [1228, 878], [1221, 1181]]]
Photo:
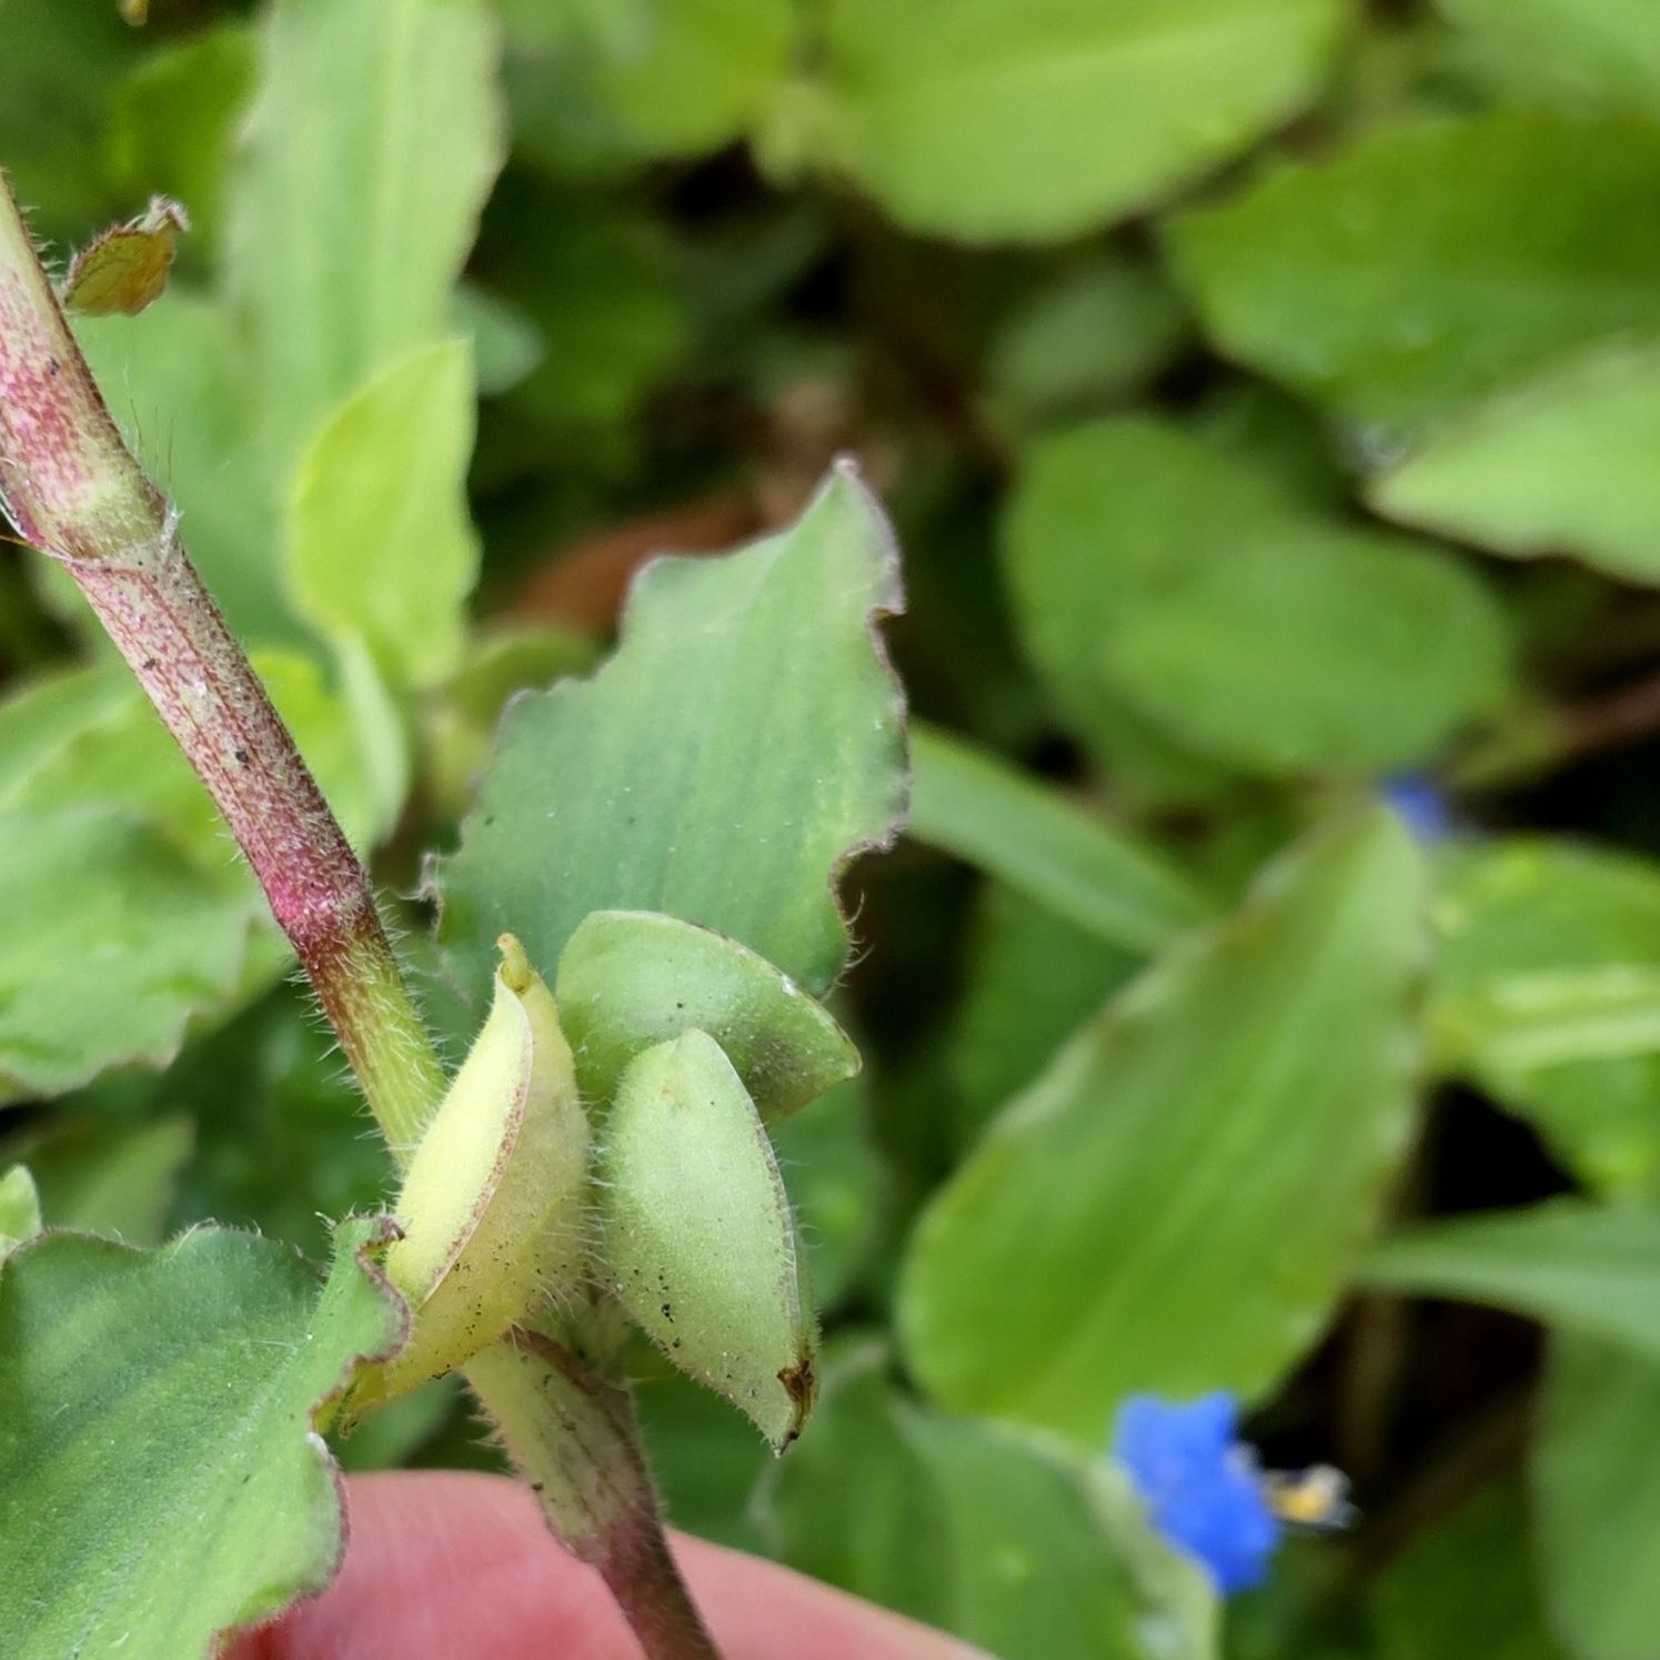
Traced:
[[0, 191], [0, 500], [75, 578], [224, 815], [395, 1152], [443, 1072], [369, 876], [116, 430]]

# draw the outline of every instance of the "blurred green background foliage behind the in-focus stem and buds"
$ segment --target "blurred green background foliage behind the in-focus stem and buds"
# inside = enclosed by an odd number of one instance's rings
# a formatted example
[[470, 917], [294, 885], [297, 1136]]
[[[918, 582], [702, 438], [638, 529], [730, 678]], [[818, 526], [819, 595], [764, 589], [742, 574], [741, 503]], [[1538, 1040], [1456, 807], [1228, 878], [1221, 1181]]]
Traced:
[[[189, 208], [83, 339], [388, 893], [647, 554], [890, 505], [915, 833], [779, 1130], [833, 1366], [769, 1467], [641, 1355], [681, 1526], [1014, 1660], [1660, 1655], [1652, 0], [0, 0], [0, 164], [60, 257]], [[365, 1116], [0, 584], [5, 1162], [320, 1250]], [[1104, 1451], [1212, 1388], [1361, 1511], [1225, 1614]]]

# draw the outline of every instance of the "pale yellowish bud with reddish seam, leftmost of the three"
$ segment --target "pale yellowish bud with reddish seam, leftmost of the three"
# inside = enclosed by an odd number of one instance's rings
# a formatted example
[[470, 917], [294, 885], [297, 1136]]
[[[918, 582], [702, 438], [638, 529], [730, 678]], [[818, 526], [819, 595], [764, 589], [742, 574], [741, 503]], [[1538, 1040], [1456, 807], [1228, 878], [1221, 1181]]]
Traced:
[[354, 1411], [413, 1389], [495, 1343], [583, 1275], [588, 1117], [553, 996], [503, 935], [483, 1031], [410, 1160], [385, 1273], [410, 1341]]

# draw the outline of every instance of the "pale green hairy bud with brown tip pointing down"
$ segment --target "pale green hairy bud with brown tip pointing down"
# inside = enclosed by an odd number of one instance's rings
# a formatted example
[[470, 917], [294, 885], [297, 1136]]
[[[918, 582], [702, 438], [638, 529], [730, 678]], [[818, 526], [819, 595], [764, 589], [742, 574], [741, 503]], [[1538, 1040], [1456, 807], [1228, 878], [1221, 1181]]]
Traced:
[[782, 1451], [812, 1409], [817, 1330], [772, 1144], [714, 1038], [692, 1029], [627, 1067], [599, 1167], [618, 1300]]

